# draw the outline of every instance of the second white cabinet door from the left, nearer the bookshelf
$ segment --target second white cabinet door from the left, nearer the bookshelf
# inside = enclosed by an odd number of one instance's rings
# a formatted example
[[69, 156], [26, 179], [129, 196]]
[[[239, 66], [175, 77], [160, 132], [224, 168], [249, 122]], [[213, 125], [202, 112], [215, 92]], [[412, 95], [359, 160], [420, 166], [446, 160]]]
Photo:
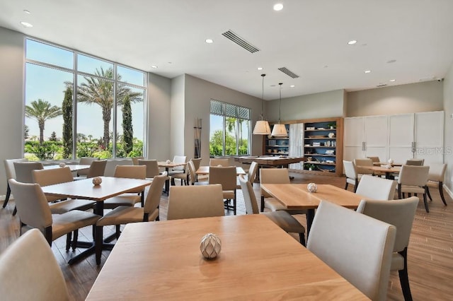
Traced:
[[364, 117], [365, 155], [378, 156], [381, 161], [387, 160], [389, 144], [389, 125], [387, 116]]

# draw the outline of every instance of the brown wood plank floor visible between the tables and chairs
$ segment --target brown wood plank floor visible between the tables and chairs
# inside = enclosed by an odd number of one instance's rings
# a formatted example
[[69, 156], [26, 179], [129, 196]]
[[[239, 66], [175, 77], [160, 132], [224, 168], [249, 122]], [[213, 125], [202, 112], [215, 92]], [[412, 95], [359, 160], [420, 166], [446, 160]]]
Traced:
[[[317, 184], [333, 184], [342, 188], [345, 183], [345, 178], [341, 177], [313, 176], [299, 173], [292, 173], [292, 175], [294, 176], [292, 180], [294, 183], [316, 182]], [[257, 196], [259, 196], [258, 184], [255, 184], [254, 188]], [[349, 189], [352, 190], [352, 187]], [[453, 202], [448, 194], [445, 194], [448, 206], [444, 206], [439, 192], [435, 189], [431, 189], [431, 195], [433, 201], [430, 202], [430, 213], [425, 212], [423, 201], [420, 201], [413, 223], [408, 247], [409, 280], [413, 300], [452, 300]], [[167, 201], [167, 197], [162, 196], [161, 220], [166, 219]], [[0, 210], [0, 252], [3, 252], [18, 237], [19, 223], [17, 217], [11, 216], [13, 208], [14, 202], [11, 201], [6, 208]], [[242, 194], [239, 191], [238, 214], [244, 213], [245, 207]], [[231, 212], [226, 212], [226, 214], [231, 214]], [[304, 216], [297, 218], [305, 224]], [[104, 235], [109, 235], [112, 232], [113, 228], [107, 228], [104, 230]], [[91, 240], [91, 228], [83, 229], [79, 239]], [[297, 239], [296, 235], [294, 235], [294, 239]], [[109, 252], [103, 252], [101, 266], [96, 266], [94, 255], [69, 266], [67, 261], [79, 250], [66, 252], [64, 245], [65, 238], [60, 237], [54, 242], [52, 250], [66, 278], [71, 300], [84, 300]], [[397, 272], [391, 272], [387, 299], [403, 300]]]

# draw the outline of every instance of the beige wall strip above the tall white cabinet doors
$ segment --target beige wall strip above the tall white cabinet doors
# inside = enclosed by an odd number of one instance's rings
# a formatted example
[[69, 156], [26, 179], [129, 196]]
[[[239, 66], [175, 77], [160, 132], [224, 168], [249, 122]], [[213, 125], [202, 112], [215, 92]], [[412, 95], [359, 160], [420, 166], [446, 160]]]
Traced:
[[349, 92], [346, 117], [442, 111], [443, 94], [438, 81]]

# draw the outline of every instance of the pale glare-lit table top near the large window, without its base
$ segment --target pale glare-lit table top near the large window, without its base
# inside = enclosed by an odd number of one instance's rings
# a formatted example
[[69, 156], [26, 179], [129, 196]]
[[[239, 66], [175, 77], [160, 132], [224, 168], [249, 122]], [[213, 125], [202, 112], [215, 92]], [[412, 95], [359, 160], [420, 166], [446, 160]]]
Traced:
[[126, 191], [144, 188], [151, 184], [148, 179], [127, 179], [122, 177], [101, 177], [101, 185], [94, 186], [93, 179], [66, 182], [42, 187], [48, 196], [61, 196], [71, 199], [105, 201]]

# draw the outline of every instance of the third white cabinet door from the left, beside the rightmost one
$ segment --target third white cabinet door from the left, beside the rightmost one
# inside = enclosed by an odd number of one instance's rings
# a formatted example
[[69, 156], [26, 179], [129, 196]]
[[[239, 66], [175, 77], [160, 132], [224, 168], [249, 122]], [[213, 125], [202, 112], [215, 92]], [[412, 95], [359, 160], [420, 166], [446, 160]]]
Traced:
[[389, 158], [395, 163], [405, 163], [413, 158], [414, 114], [389, 116]]

